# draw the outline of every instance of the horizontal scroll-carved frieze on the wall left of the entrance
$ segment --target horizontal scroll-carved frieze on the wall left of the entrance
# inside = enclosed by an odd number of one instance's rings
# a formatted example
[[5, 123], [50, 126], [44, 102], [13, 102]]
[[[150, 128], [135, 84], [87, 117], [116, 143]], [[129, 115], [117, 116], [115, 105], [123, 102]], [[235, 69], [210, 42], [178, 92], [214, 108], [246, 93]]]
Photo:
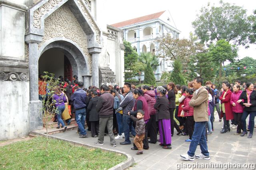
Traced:
[[28, 81], [28, 73], [2, 72], [0, 71], [0, 81]]

